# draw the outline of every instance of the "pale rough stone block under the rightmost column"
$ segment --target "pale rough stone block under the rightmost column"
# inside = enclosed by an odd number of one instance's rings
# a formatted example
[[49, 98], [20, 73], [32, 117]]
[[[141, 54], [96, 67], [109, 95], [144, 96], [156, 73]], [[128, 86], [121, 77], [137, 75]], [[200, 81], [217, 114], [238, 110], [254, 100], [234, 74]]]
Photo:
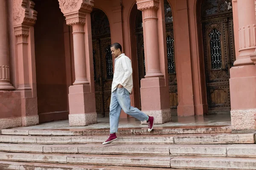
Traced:
[[256, 130], [256, 109], [234, 109], [230, 115], [232, 130]]

